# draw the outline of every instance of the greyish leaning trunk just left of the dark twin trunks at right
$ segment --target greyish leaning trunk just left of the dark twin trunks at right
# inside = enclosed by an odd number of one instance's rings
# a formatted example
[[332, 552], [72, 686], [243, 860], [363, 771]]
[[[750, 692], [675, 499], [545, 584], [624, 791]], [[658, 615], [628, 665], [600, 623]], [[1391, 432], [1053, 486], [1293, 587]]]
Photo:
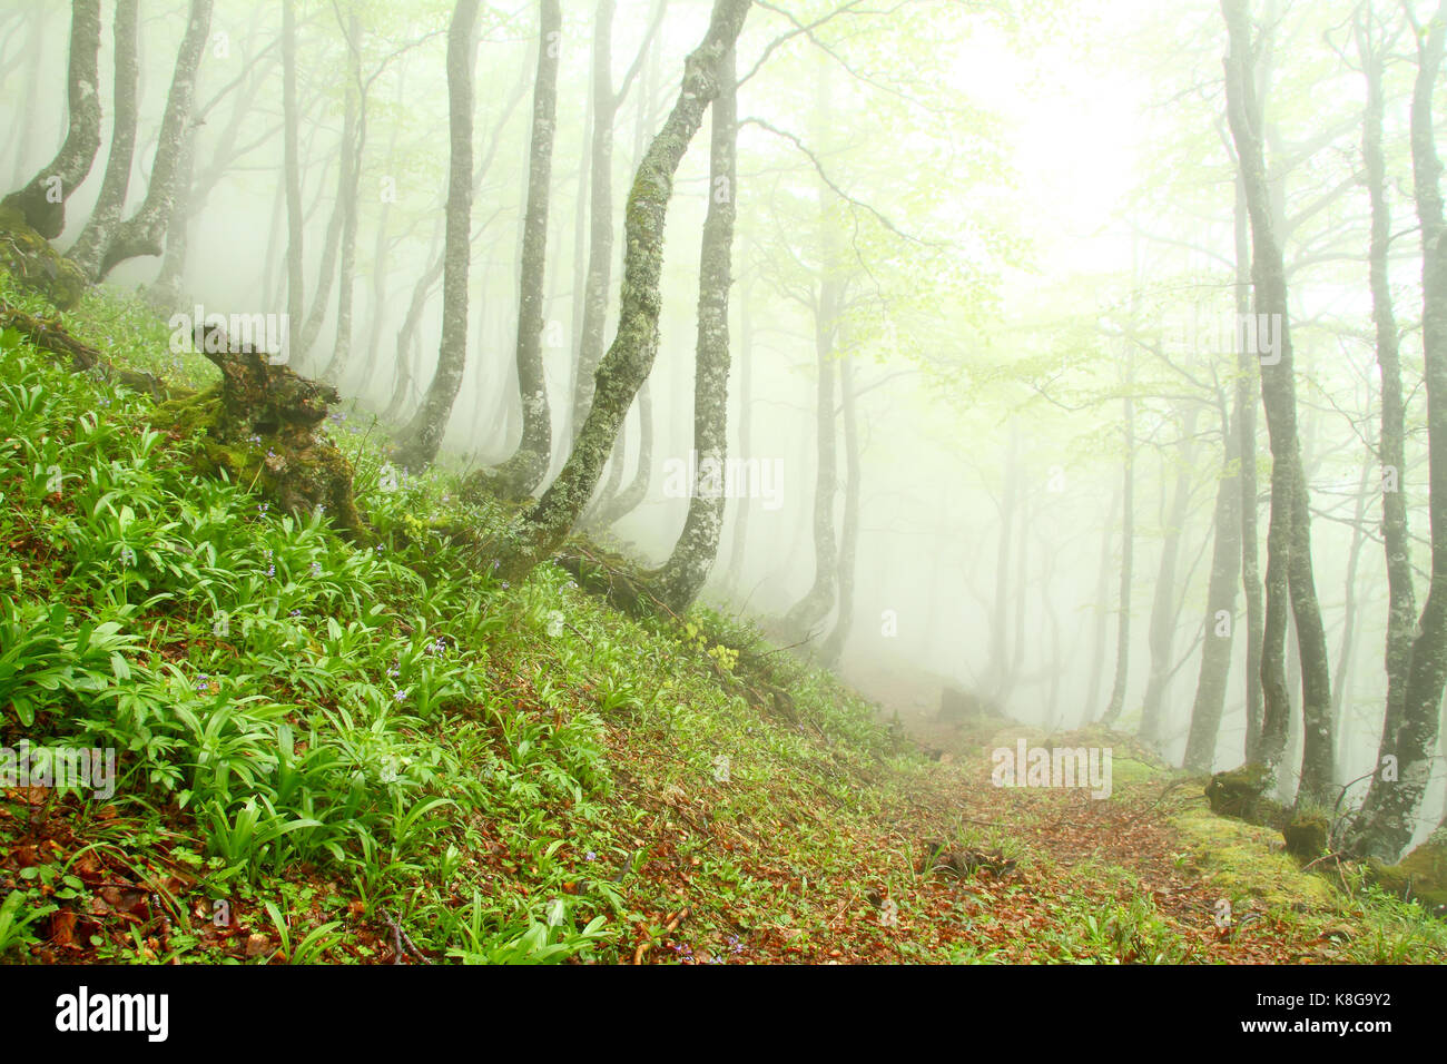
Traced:
[[1184, 766], [1189, 772], [1210, 772], [1215, 760], [1215, 740], [1221, 731], [1226, 688], [1231, 673], [1231, 644], [1236, 637], [1236, 580], [1242, 569], [1242, 489], [1240, 442], [1227, 415], [1226, 397], [1220, 398], [1221, 440], [1226, 468], [1215, 488], [1215, 521], [1211, 541], [1211, 578], [1205, 592], [1205, 641], [1201, 647], [1201, 672], [1191, 705], [1191, 728], [1185, 740]]

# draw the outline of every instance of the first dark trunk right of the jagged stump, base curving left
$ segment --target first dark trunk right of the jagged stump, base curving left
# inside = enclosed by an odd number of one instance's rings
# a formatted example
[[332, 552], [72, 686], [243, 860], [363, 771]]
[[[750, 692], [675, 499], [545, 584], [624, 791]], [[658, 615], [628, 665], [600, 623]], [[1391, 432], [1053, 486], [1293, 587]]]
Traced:
[[467, 265], [472, 245], [472, 65], [473, 23], [479, 0], [457, 0], [447, 29], [447, 123], [451, 158], [447, 169], [447, 233], [443, 252], [443, 336], [437, 369], [423, 397], [417, 426], [394, 462], [420, 470], [441, 447], [451, 404], [467, 362]]

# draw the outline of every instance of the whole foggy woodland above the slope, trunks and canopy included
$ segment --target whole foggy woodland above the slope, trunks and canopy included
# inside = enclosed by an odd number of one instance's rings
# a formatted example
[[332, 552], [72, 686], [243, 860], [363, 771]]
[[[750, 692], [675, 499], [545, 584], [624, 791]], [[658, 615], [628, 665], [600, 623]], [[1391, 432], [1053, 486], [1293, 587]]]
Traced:
[[1395, 858], [1447, 802], [1444, 36], [10, 0], [3, 210], [511, 499], [511, 579], [585, 530], [887, 705], [1256, 766]]

